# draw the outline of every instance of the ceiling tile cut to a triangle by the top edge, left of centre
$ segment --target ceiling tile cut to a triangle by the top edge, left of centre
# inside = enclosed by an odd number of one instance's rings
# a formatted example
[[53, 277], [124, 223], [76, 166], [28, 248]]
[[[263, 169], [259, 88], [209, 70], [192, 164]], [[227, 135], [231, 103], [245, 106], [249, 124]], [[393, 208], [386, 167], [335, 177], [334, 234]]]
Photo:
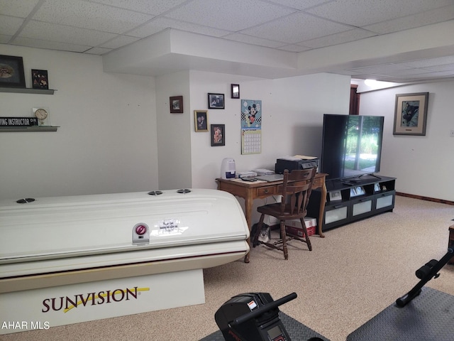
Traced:
[[99, 4], [115, 6], [139, 13], [153, 14], [153, 16], [165, 13], [186, 1], [187, 0], [94, 0], [94, 2], [98, 2]]

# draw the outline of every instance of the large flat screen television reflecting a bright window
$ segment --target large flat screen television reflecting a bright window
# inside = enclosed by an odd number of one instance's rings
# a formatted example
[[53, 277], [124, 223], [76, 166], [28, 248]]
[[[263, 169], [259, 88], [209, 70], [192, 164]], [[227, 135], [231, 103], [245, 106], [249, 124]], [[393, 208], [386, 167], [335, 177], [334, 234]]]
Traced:
[[382, 116], [324, 114], [321, 173], [338, 179], [380, 171], [383, 123]]

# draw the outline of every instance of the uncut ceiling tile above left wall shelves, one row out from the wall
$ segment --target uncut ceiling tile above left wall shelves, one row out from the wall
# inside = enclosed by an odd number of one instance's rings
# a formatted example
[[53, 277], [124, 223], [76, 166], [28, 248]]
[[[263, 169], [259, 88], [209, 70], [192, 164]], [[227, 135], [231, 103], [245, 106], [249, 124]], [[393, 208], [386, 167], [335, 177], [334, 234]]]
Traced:
[[71, 43], [85, 46], [96, 46], [106, 40], [115, 38], [114, 33], [87, 30], [71, 26], [57, 25], [56, 23], [43, 23], [41, 21], [29, 21], [23, 28], [20, 37], [46, 40], [54, 40], [60, 43]]

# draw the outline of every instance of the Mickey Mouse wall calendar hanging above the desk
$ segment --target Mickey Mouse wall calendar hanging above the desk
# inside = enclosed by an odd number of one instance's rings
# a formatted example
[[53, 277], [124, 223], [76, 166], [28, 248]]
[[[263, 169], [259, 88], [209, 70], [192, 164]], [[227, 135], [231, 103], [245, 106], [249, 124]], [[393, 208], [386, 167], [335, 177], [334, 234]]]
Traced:
[[241, 153], [262, 153], [262, 101], [241, 99]]

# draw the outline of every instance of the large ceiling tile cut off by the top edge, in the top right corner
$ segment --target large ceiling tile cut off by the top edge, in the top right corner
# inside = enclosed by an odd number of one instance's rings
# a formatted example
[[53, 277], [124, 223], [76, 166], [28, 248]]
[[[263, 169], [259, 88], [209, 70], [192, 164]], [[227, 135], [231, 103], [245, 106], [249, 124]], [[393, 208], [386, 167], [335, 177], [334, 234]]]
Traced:
[[343, 0], [307, 12], [353, 26], [365, 26], [450, 4], [453, 4], [452, 0]]

